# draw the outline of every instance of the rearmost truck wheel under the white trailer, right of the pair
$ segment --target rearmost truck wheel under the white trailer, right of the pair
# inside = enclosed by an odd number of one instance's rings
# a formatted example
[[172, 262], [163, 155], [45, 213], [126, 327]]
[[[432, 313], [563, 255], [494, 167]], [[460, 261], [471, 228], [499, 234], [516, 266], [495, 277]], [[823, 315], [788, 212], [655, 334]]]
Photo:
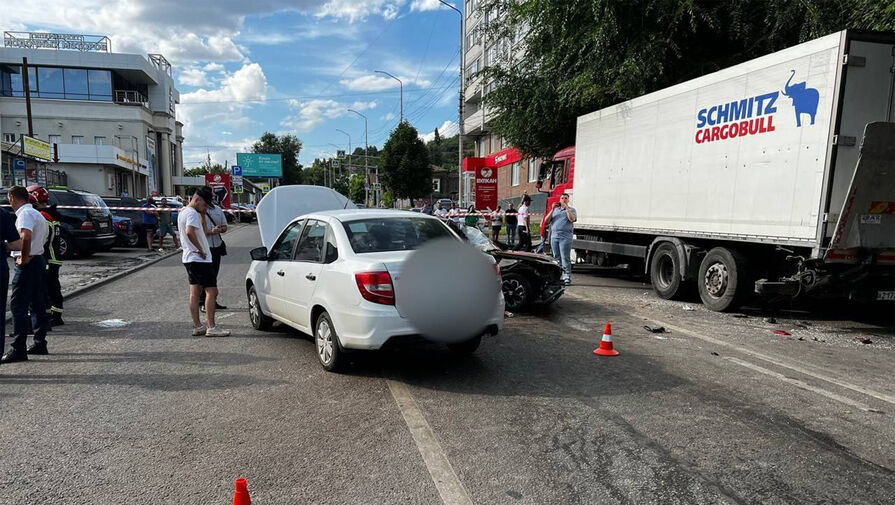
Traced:
[[716, 312], [737, 309], [754, 289], [747, 268], [746, 259], [737, 251], [725, 247], [709, 251], [699, 265], [696, 281], [702, 303]]

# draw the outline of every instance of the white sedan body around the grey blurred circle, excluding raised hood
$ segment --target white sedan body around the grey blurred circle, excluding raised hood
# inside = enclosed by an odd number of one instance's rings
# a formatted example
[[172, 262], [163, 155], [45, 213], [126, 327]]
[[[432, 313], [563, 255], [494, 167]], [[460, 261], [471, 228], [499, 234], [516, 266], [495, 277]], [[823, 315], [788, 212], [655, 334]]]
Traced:
[[[252, 326], [263, 330], [277, 320], [313, 335], [326, 370], [341, 365], [344, 349], [424, 337], [402, 312], [394, 281], [414, 249], [444, 238], [460, 240], [437, 218], [404, 211], [350, 209], [296, 218], [269, 250], [251, 251], [246, 292]], [[473, 352], [482, 335], [500, 331], [503, 294], [498, 282], [493, 288], [493, 314], [481, 331], [448, 347]], [[438, 300], [434, 292], [432, 302]]]

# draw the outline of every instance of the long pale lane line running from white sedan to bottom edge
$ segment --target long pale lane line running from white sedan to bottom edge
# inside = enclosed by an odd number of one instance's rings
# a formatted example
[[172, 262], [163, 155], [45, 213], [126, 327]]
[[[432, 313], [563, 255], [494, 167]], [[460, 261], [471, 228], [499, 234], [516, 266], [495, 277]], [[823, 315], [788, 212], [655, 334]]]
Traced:
[[438, 443], [438, 438], [435, 437], [435, 432], [410, 394], [410, 389], [407, 385], [390, 379], [386, 379], [386, 383], [392, 398], [398, 404], [398, 410], [404, 417], [413, 441], [416, 442], [416, 448], [426, 463], [426, 469], [429, 470], [432, 482], [438, 489], [441, 501], [444, 505], [472, 505], [466, 488], [454, 472], [454, 467], [451, 466], [441, 444]]

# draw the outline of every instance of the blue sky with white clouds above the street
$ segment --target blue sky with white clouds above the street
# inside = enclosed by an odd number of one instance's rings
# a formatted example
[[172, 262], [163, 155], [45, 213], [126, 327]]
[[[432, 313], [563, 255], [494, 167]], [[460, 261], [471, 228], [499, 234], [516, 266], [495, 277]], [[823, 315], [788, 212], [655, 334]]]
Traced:
[[[459, 1], [453, 3], [459, 8]], [[49, 16], [47, 13], [51, 13]], [[235, 162], [263, 132], [293, 133], [309, 164], [339, 147], [381, 146], [404, 114], [456, 133], [459, 15], [437, 0], [33, 0], [4, 30], [108, 35], [116, 52], [174, 65], [184, 164]]]

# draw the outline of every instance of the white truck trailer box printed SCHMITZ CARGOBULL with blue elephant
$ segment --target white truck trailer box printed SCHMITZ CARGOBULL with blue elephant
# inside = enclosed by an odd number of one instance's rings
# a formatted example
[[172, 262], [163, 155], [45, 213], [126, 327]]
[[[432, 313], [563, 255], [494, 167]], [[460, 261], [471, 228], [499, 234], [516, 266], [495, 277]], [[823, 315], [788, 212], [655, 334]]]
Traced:
[[893, 48], [891, 35], [843, 31], [581, 116], [576, 233], [823, 256], [865, 126], [892, 121]]

